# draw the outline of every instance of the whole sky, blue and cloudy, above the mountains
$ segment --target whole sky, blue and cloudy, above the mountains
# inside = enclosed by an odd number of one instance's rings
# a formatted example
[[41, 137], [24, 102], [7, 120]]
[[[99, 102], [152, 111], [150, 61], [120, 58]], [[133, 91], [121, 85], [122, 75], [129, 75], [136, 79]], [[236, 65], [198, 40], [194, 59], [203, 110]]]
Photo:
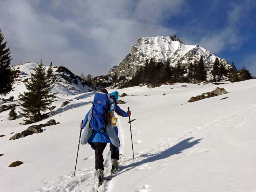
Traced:
[[139, 37], [176, 34], [256, 76], [255, 0], [0, 0], [12, 65], [105, 75]]

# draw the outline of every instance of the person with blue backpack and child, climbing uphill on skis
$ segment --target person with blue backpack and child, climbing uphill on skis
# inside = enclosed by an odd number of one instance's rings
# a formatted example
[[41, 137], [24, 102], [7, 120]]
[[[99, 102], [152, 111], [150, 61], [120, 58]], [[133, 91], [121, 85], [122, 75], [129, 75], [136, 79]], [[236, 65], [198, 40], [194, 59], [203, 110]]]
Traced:
[[[104, 166], [103, 166], [104, 159], [102, 154], [107, 143], [110, 143], [109, 147], [111, 151], [111, 163], [112, 163], [111, 172], [116, 170], [118, 166], [118, 160], [119, 160], [118, 147], [120, 147], [120, 140], [118, 139], [118, 136], [117, 136], [118, 129], [115, 126], [115, 124], [113, 125], [111, 122], [112, 119], [116, 120], [116, 117], [114, 117], [113, 112], [116, 112], [119, 116], [122, 116], [122, 117], [131, 116], [131, 112], [130, 111], [125, 112], [117, 105], [117, 100], [118, 100], [117, 91], [114, 91], [108, 95], [108, 91], [106, 89], [102, 89], [100, 94], [99, 93], [98, 95], [95, 94], [95, 97], [94, 97], [95, 104], [104, 102], [104, 101], [98, 101], [99, 99], [97, 98], [99, 97], [101, 97], [100, 100], [103, 100], [102, 98], [104, 97], [108, 100], [106, 101], [106, 105], [104, 106], [105, 107], [104, 109], [106, 109], [107, 114], [106, 114], [106, 118], [104, 118], [103, 128], [100, 131], [96, 131], [95, 129], [91, 128], [91, 125], [89, 125], [89, 123], [87, 123], [89, 122], [88, 118], [90, 118], [91, 110], [86, 114], [86, 117], [84, 118], [83, 123], [80, 124], [80, 128], [84, 128], [81, 143], [82, 144], [89, 143], [90, 146], [95, 150], [95, 170], [100, 183], [100, 181], [102, 181], [102, 178], [103, 178], [103, 170], [104, 170]], [[90, 121], [90, 124], [91, 124], [91, 121]]]

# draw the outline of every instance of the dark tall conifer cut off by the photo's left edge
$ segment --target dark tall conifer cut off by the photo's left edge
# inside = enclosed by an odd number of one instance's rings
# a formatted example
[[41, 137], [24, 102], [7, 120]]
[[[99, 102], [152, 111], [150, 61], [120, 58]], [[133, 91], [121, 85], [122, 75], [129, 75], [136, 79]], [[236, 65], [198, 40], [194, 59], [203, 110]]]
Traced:
[[10, 68], [12, 59], [10, 49], [6, 48], [7, 43], [3, 41], [4, 35], [0, 29], [0, 95], [7, 95], [12, 90], [13, 83]]

